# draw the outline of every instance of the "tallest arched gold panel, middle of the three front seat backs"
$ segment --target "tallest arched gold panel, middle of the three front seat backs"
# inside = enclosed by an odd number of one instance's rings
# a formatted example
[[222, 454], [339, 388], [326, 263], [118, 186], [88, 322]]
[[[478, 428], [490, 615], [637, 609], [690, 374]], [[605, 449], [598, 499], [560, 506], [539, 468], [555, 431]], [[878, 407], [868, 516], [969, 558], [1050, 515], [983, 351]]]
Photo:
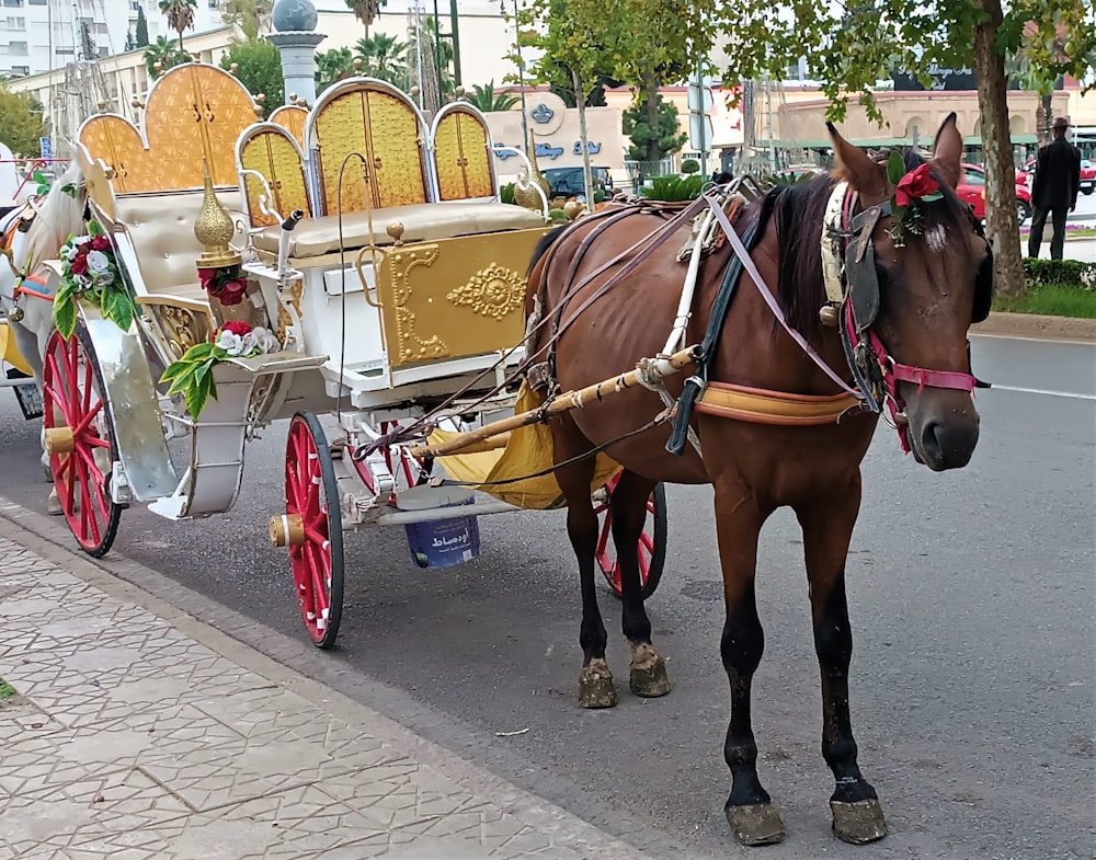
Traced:
[[[324, 214], [339, 211], [340, 171], [344, 213], [429, 200], [421, 124], [402, 93], [355, 82], [316, 108], [309, 137], [319, 150]], [[361, 154], [365, 163], [351, 158], [343, 170], [351, 153]]]

